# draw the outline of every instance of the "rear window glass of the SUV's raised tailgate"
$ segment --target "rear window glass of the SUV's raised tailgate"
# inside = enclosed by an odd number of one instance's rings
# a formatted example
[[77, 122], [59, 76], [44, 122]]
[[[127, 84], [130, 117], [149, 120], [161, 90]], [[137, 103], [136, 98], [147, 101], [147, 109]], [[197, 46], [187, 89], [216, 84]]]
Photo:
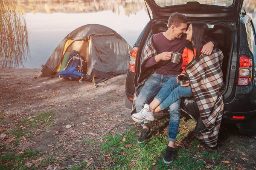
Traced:
[[160, 7], [184, 5], [187, 2], [195, 2], [195, 1], [204, 5], [231, 6], [234, 0], [155, 0], [156, 4]]

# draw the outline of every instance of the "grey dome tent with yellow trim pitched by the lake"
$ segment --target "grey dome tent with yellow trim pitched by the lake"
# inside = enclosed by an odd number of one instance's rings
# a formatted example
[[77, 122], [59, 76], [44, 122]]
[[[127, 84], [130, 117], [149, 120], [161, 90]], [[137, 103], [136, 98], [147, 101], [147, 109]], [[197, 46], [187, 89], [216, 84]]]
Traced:
[[42, 68], [42, 75], [58, 76], [73, 50], [87, 63], [87, 74], [83, 78], [87, 81], [99, 83], [128, 71], [131, 46], [111, 28], [88, 24], [75, 29], [61, 41]]

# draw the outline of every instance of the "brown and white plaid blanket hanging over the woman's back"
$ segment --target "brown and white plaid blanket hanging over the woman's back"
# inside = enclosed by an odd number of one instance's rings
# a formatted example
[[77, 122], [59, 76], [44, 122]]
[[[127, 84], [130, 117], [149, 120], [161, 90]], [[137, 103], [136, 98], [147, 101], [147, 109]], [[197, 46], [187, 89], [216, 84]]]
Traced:
[[211, 55], [201, 54], [185, 68], [202, 122], [209, 130], [195, 136], [209, 147], [217, 145], [218, 131], [224, 112], [222, 61], [222, 51], [214, 49]]

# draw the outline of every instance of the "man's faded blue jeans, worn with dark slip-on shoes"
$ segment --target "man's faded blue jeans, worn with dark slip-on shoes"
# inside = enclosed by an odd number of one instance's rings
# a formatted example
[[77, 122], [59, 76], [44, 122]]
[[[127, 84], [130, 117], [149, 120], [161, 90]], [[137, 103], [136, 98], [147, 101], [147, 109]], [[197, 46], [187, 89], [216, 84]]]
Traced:
[[[152, 76], [145, 82], [145, 85], [141, 89], [140, 94], [135, 101], [136, 111], [138, 112], [140, 109], [143, 109], [145, 103], [149, 104], [165, 83], [174, 77], [177, 77], [177, 75], [170, 76], [157, 73], [152, 74]], [[170, 113], [168, 139], [169, 141], [175, 142], [180, 125], [180, 100], [177, 100], [170, 105], [168, 111]], [[142, 122], [141, 125], [146, 126], [147, 124]]]

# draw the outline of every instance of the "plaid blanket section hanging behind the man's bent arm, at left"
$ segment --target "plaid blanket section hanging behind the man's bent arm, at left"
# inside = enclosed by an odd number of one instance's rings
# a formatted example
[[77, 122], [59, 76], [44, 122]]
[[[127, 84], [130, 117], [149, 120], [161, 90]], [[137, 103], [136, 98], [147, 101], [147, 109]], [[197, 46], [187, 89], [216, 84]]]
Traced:
[[131, 114], [135, 112], [135, 101], [137, 99], [137, 96], [140, 93], [140, 90], [142, 89], [143, 85], [148, 80], [148, 78], [154, 73], [154, 69], [151, 69], [151, 68], [147, 69], [147, 68], [143, 67], [143, 65], [145, 64], [145, 61], [147, 59], [157, 55], [157, 51], [154, 48], [153, 41], [152, 41], [153, 36], [154, 36], [154, 34], [150, 37], [147, 44], [145, 45], [145, 48], [144, 48], [144, 51], [143, 51], [143, 57], [140, 58], [140, 75], [137, 78], [138, 85], [135, 88], [134, 100], [133, 100]]

